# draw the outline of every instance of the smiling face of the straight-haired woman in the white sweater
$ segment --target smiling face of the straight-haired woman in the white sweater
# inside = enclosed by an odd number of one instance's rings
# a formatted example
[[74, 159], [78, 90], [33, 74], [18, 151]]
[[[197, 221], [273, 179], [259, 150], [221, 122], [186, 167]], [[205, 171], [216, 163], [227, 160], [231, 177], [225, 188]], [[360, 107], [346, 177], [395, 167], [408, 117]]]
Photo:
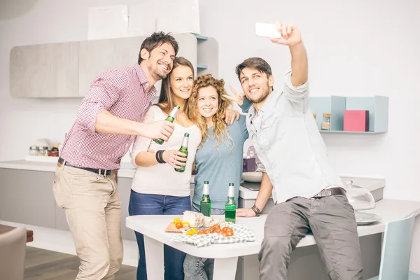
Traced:
[[190, 67], [179, 65], [174, 68], [170, 76], [171, 90], [174, 95], [181, 99], [188, 99], [191, 96], [194, 84], [194, 73]]

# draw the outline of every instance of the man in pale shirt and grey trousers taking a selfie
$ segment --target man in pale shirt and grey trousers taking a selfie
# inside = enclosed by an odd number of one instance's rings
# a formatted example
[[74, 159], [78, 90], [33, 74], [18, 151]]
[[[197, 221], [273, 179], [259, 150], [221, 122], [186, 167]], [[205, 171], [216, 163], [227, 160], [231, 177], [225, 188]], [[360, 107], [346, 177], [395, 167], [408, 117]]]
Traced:
[[[282, 37], [271, 40], [287, 45], [292, 57], [283, 91], [273, 90], [274, 77], [264, 59], [248, 58], [236, 69], [245, 100], [253, 104], [246, 116], [249, 138], [265, 167], [255, 205], [237, 209], [237, 216], [258, 216], [272, 195], [275, 205], [259, 254], [261, 280], [287, 279], [290, 253], [310, 231], [330, 279], [362, 279], [353, 207], [328, 163], [309, 109], [307, 52], [300, 31], [294, 25], [278, 28]], [[241, 104], [244, 97], [234, 94], [230, 99]]]

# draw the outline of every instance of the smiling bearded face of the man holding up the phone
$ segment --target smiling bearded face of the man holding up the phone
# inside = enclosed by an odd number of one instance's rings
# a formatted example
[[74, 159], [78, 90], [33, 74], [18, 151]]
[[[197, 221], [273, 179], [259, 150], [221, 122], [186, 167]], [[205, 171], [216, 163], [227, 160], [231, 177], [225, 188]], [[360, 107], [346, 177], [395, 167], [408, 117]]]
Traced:
[[265, 99], [272, 92], [274, 84], [273, 76], [267, 78], [267, 74], [262, 73], [258, 69], [248, 67], [242, 69], [239, 80], [246, 98], [254, 104], [265, 102]]

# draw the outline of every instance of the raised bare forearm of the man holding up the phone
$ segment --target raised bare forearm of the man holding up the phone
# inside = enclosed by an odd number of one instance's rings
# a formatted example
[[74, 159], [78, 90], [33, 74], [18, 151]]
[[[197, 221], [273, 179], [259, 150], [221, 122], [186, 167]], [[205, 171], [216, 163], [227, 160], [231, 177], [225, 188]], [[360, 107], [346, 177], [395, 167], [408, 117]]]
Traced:
[[308, 80], [308, 57], [303, 42], [290, 45], [290, 54], [292, 56], [292, 77], [290, 80], [297, 87]]

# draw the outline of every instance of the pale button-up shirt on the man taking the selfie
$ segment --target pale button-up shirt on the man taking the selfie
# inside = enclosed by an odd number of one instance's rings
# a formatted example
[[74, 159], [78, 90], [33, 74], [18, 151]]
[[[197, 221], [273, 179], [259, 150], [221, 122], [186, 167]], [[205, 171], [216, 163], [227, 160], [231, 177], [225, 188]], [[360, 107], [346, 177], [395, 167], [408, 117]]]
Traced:
[[284, 77], [283, 92], [273, 91], [260, 111], [251, 106], [246, 116], [249, 139], [273, 185], [274, 203], [342, 186], [309, 109], [309, 82], [295, 87], [291, 73]]

